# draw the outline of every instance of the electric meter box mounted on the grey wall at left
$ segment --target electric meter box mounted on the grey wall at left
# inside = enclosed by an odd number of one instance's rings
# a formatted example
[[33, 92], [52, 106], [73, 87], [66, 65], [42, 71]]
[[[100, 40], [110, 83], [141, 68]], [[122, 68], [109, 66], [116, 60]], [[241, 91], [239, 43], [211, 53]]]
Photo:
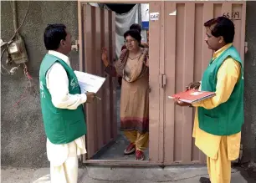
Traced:
[[17, 36], [13, 43], [8, 45], [8, 52], [15, 64], [23, 64], [28, 62], [28, 54], [21, 36]]

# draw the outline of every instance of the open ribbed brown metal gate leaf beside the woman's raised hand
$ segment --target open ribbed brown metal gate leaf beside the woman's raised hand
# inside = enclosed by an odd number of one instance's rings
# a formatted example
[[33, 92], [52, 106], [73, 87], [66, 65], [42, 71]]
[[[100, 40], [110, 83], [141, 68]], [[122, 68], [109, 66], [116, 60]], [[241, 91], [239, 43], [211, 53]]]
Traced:
[[[105, 74], [101, 62], [101, 48], [109, 50], [110, 62], [115, 58], [115, 13], [105, 9], [83, 4], [81, 8], [80, 55], [81, 70], [106, 78], [105, 84], [98, 92], [92, 104], [86, 104], [86, 148], [87, 158], [95, 155], [104, 145], [117, 135], [115, 79]], [[114, 24], [113, 24], [114, 23]]]

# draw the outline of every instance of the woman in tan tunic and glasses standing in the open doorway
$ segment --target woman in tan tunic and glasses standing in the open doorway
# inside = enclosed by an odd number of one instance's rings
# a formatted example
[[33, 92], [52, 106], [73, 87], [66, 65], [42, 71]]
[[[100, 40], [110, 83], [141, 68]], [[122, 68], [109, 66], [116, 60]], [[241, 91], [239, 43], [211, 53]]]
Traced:
[[148, 48], [141, 48], [141, 34], [128, 30], [124, 34], [126, 48], [115, 66], [110, 65], [103, 48], [102, 61], [106, 73], [122, 77], [120, 96], [120, 130], [125, 132], [130, 145], [125, 155], [136, 153], [136, 160], [144, 160], [149, 139], [149, 70]]

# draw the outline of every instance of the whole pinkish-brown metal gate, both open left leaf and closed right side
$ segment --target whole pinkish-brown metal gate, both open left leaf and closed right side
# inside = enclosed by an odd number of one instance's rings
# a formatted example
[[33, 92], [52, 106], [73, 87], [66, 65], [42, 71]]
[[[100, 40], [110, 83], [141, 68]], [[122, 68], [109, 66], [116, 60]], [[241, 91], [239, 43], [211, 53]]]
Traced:
[[[118, 3], [128, 2], [119, 0]], [[100, 62], [100, 49], [104, 46], [110, 50], [110, 60], [115, 56], [115, 13], [81, 4], [80, 69], [107, 77], [104, 89], [99, 92], [102, 100], [86, 106], [86, 146], [90, 158], [116, 137], [115, 79], [105, 75]], [[208, 19], [218, 16], [233, 19], [236, 27], [234, 45], [243, 59], [246, 3], [150, 2], [150, 13], [150, 160], [141, 163], [204, 164], [205, 156], [192, 139], [192, 109], [174, 106], [167, 96], [182, 91], [192, 81], [201, 80], [212, 54], [204, 43], [203, 23]], [[116, 162], [121, 164], [121, 161]], [[136, 162], [131, 163], [140, 163]]]

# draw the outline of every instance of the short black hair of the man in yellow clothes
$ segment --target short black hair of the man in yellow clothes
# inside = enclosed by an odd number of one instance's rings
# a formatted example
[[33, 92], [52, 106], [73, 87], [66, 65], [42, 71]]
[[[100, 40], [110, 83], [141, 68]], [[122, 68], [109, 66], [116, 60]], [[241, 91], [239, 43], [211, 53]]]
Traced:
[[235, 28], [233, 22], [229, 18], [212, 18], [204, 23], [204, 26], [211, 29], [212, 36], [216, 38], [223, 36], [225, 43], [233, 43]]

